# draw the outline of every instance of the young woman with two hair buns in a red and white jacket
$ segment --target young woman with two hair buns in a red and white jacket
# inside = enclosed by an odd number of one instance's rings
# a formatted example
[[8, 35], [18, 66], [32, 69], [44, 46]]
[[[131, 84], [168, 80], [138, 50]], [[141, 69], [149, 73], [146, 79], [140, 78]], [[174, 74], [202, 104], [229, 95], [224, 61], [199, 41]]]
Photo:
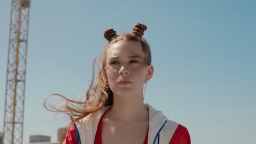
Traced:
[[96, 85], [93, 75], [85, 101], [63, 97], [69, 102], [57, 110], [72, 117], [60, 143], [190, 144], [187, 128], [143, 103], [143, 89], [154, 73], [150, 47], [142, 38], [146, 29], [137, 23], [128, 34], [104, 31], [109, 44], [99, 57]]

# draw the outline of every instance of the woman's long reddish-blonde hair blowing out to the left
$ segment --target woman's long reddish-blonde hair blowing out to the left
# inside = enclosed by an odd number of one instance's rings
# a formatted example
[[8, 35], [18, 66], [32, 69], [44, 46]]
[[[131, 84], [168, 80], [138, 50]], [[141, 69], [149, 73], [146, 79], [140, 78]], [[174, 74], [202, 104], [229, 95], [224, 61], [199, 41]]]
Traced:
[[[137, 24], [136, 24], [137, 25]], [[133, 28], [134, 31], [135, 28]], [[108, 37], [109, 35], [104, 34], [104, 36]], [[142, 34], [143, 35], [143, 34]], [[142, 36], [141, 35], [141, 36]], [[86, 100], [84, 101], [77, 101], [73, 99], [68, 99], [63, 97], [60, 94], [50, 94], [44, 99], [44, 107], [45, 109], [53, 112], [63, 112], [67, 115], [72, 117], [72, 121], [68, 123], [67, 127], [62, 133], [62, 138], [60, 143], [65, 140], [67, 130], [80, 119], [90, 115], [90, 113], [101, 109], [103, 106], [108, 106], [113, 104], [113, 92], [109, 87], [107, 78], [106, 78], [106, 57], [107, 51], [109, 47], [117, 43], [120, 40], [129, 40], [129, 41], [137, 41], [142, 45], [142, 51], [146, 54], [145, 56], [145, 64], [150, 65], [152, 62], [151, 50], [150, 46], [148, 45], [146, 39], [138, 37], [134, 33], [127, 33], [127, 34], [120, 34], [120, 35], [112, 35], [113, 37], [109, 39], [109, 44], [104, 48], [101, 53], [101, 56], [96, 57], [92, 63], [92, 80], [90, 82], [88, 91], [86, 92]], [[139, 35], [140, 36], [140, 35]], [[109, 37], [108, 37], [109, 38]], [[100, 59], [100, 68], [96, 77], [96, 85], [94, 85], [95, 79], [95, 65], [97, 59]], [[46, 100], [51, 97], [52, 95], [58, 95], [65, 103], [62, 105], [54, 105], [51, 109], [46, 106]]]

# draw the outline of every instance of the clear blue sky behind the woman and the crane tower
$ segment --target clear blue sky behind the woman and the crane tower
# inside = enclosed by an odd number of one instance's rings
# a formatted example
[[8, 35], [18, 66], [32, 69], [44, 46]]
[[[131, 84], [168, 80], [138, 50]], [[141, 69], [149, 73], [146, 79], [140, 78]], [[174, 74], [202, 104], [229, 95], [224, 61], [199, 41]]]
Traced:
[[[32, 1], [24, 143], [67, 124], [43, 107], [60, 93], [80, 98], [103, 31], [144, 23], [155, 73], [145, 102], [188, 128], [192, 143], [256, 143], [256, 2]], [[0, 4], [0, 131], [3, 131], [11, 1]]]

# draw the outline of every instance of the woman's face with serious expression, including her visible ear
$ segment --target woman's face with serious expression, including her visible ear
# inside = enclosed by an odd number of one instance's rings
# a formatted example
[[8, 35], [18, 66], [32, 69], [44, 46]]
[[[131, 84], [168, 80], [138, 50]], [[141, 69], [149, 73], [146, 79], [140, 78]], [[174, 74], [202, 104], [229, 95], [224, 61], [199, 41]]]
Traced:
[[141, 43], [121, 40], [107, 51], [106, 73], [109, 87], [117, 95], [142, 94], [143, 84], [153, 76], [153, 65], [146, 65]]

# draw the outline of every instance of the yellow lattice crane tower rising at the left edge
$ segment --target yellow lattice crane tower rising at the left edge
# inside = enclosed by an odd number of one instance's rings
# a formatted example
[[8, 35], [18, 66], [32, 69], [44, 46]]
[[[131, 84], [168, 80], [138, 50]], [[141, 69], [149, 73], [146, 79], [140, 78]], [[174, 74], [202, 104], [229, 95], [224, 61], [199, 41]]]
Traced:
[[22, 143], [29, 16], [30, 0], [11, 1], [3, 144]]

